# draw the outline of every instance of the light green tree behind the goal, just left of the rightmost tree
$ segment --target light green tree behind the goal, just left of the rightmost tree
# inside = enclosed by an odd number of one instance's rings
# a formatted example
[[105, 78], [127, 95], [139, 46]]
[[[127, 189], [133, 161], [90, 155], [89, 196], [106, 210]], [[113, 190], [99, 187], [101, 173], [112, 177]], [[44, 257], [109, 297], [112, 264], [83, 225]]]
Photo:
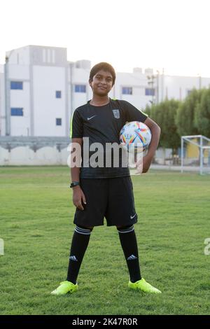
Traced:
[[180, 103], [176, 116], [176, 127], [179, 136], [200, 134], [195, 123], [195, 109], [200, 104], [203, 92], [204, 89], [193, 89], [188, 97]]

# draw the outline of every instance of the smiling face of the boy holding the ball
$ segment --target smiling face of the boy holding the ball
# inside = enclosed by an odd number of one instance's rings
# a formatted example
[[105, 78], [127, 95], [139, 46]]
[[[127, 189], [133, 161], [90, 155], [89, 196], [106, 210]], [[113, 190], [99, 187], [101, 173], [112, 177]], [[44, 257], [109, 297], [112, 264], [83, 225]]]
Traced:
[[106, 96], [112, 88], [113, 78], [108, 71], [100, 70], [92, 78], [90, 87], [92, 92], [98, 96]]

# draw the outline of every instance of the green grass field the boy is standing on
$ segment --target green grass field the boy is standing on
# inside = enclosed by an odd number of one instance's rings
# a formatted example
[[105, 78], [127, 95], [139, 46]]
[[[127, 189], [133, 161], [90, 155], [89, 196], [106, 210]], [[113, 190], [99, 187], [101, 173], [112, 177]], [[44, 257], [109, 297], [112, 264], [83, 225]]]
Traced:
[[[128, 290], [116, 228], [94, 228], [73, 295], [66, 279], [74, 207], [68, 167], [1, 167], [0, 314], [209, 314], [210, 176], [132, 177], [141, 274], [162, 295]], [[106, 221], [104, 220], [104, 223]]]

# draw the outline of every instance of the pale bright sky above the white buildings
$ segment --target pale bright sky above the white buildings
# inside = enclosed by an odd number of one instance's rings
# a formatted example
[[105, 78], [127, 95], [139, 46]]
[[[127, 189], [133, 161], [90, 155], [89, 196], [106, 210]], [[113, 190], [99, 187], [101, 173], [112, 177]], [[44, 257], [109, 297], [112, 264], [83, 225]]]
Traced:
[[1, 0], [0, 64], [7, 50], [50, 45], [116, 71], [210, 77], [209, 12], [209, 0]]

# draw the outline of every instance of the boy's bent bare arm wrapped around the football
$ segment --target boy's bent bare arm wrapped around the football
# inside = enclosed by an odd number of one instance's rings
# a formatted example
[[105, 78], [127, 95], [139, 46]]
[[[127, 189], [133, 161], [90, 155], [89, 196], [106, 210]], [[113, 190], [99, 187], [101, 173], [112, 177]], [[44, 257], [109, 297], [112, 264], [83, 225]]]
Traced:
[[151, 120], [150, 118], [146, 118], [144, 121], [145, 125], [147, 125], [152, 134], [151, 144], [148, 147], [148, 153], [143, 158], [143, 173], [148, 172], [149, 167], [151, 167], [151, 162], [155, 155], [155, 151], [158, 148], [158, 143], [160, 139], [160, 127], [155, 123], [155, 121]]

